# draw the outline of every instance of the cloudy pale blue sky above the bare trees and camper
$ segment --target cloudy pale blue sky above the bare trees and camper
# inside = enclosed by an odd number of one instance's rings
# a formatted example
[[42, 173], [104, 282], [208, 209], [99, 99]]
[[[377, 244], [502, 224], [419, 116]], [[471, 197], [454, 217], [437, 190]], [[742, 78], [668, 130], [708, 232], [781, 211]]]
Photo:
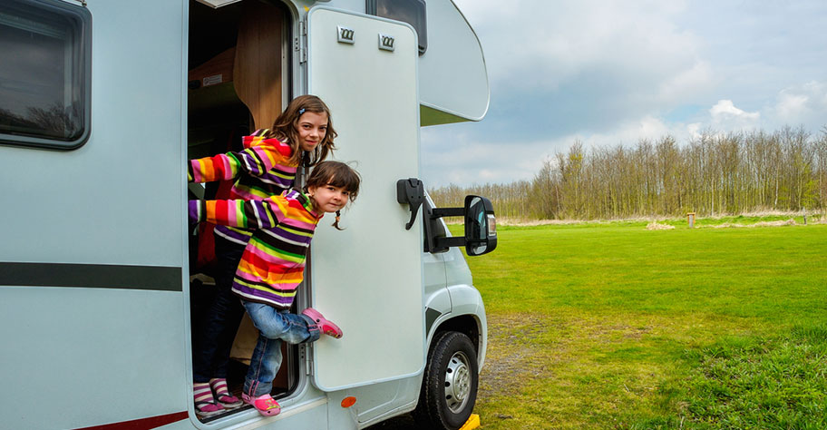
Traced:
[[453, 0], [482, 44], [481, 122], [422, 129], [423, 181], [530, 181], [575, 141], [827, 126], [823, 0]]

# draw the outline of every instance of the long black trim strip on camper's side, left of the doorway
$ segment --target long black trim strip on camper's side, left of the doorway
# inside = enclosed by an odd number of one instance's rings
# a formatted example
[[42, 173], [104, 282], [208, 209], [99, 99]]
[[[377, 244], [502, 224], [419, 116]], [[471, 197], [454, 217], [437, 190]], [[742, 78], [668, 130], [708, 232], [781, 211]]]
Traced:
[[75, 287], [182, 291], [182, 268], [0, 262], [0, 287]]

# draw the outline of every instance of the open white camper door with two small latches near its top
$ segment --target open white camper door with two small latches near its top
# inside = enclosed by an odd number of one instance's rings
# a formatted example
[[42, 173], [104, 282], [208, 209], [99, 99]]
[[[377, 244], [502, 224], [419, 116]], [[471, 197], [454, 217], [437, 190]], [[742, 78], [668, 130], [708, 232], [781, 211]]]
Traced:
[[316, 386], [333, 391], [424, 366], [422, 221], [405, 230], [396, 200], [396, 181], [419, 176], [418, 48], [407, 24], [323, 7], [307, 29], [308, 92], [332, 111], [335, 159], [362, 175], [345, 230], [327, 215], [311, 247], [312, 306], [345, 332], [312, 347]]

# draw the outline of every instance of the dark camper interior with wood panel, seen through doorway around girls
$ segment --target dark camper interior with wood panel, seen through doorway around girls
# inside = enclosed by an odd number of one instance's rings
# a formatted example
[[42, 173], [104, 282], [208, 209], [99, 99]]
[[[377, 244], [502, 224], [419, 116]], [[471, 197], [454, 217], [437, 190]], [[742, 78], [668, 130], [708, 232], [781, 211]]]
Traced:
[[[289, 97], [290, 14], [283, 5], [238, 2], [214, 9], [190, 0], [188, 158], [240, 151], [241, 138], [269, 128]], [[266, 71], [266, 73], [263, 73]], [[190, 184], [190, 198], [229, 197], [230, 181]], [[211, 225], [190, 236], [191, 329], [196, 333], [215, 294]], [[230, 354], [230, 391], [241, 384], [258, 331], [245, 314]], [[193, 342], [195, 337], [193, 337]], [[297, 347], [282, 350], [285, 361], [274, 382], [275, 398], [297, 386]], [[203, 418], [208, 422], [251, 406]]]

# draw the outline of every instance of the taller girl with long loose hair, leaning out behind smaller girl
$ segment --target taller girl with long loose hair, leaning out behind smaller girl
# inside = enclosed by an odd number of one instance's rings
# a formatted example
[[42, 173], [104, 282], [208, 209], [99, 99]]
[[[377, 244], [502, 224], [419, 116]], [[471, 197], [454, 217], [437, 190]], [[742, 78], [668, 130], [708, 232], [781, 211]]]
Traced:
[[[293, 186], [300, 164], [309, 167], [326, 159], [335, 149], [335, 137], [327, 105], [315, 95], [302, 95], [287, 105], [270, 130], [245, 136], [243, 151], [191, 160], [188, 179], [235, 179], [229, 199], [262, 200], [277, 196]], [[193, 393], [195, 410], [200, 416], [215, 415], [224, 408], [242, 404], [229, 393], [226, 379], [229, 351], [244, 313], [230, 287], [251, 236], [252, 231], [243, 228], [215, 229], [217, 292], [206, 311], [203, 329], [193, 338]]]

